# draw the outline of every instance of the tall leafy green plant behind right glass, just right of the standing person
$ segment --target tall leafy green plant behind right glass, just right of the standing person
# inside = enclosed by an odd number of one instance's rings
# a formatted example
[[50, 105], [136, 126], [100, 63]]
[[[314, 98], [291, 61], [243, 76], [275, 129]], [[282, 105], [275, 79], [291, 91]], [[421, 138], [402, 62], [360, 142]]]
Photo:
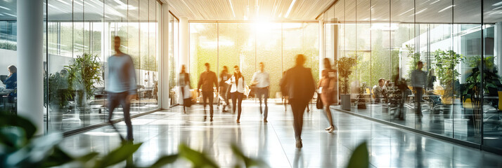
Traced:
[[453, 104], [453, 83], [457, 81], [457, 76], [460, 76], [455, 66], [461, 63], [463, 57], [453, 50], [436, 50], [434, 57], [437, 78], [444, 88], [441, 99], [446, 104]]

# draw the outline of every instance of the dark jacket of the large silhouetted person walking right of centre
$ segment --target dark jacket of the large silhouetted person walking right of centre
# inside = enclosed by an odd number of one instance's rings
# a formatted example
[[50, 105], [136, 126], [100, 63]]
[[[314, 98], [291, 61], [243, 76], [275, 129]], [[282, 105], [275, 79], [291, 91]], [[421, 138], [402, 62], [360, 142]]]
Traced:
[[295, 66], [286, 71], [281, 88], [287, 90], [289, 99], [308, 102], [314, 96], [316, 86], [309, 68]]

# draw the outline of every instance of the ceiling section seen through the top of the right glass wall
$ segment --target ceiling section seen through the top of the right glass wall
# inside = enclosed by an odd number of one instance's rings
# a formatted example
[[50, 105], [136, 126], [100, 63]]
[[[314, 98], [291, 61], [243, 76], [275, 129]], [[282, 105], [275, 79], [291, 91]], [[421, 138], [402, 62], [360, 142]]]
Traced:
[[480, 24], [483, 10], [485, 23], [502, 22], [502, 0], [483, 3], [481, 8], [481, 0], [339, 0], [324, 20]]

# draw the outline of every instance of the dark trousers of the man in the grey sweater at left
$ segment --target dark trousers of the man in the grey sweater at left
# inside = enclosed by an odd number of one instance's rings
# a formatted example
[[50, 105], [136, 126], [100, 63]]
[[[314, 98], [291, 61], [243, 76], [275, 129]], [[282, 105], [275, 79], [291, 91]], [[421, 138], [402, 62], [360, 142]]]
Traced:
[[[111, 123], [113, 111], [119, 104], [122, 106], [122, 111], [124, 111], [124, 122], [127, 125], [127, 140], [132, 140], [132, 124], [131, 124], [131, 116], [129, 114], [129, 109], [131, 104], [127, 103], [127, 96], [129, 92], [119, 92], [113, 93], [108, 92], [108, 122]], [[113, 126], [113, 125], [112, 125]], [[115, 127], [115, 126], [113, 126]]]

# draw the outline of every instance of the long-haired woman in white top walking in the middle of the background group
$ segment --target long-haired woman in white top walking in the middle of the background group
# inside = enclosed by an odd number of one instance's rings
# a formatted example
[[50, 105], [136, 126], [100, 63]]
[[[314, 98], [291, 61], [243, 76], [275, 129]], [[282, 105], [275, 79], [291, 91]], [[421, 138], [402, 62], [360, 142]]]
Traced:
[[242, 104], [244, 97], [244, 88], [246, 84], [243, 73], [240, 73], [239, 66], [233, 66], [233, 76], [229, 80], [226, 80], [226, 83], [230, 85], [233, 113], [235, 113], [236, 108], [238, 108], [236, 123], [240, 123], [240, 113], [242, 113], [243, 111]]

